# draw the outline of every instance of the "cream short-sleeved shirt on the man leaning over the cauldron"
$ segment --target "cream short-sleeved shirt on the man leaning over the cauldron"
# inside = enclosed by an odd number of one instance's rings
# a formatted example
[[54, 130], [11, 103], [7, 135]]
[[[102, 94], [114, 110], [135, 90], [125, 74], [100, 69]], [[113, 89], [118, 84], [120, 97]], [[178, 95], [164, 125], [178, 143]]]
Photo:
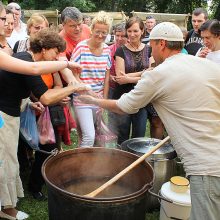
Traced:
[[187, 175], [220, 177], [220, 68], [208, 59], [177, 54], [145, 71], [117, 105], [132, 114], [151, 102]]

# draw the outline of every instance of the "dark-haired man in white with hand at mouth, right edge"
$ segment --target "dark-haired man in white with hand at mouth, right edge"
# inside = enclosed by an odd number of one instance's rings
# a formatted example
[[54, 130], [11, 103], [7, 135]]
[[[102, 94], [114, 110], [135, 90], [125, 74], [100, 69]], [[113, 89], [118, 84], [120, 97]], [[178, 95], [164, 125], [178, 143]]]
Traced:
[[200, 31], [205, 47], [198, 51], [197, 56], [220, 64], [220, 22], [208, 20], [200, 27]]

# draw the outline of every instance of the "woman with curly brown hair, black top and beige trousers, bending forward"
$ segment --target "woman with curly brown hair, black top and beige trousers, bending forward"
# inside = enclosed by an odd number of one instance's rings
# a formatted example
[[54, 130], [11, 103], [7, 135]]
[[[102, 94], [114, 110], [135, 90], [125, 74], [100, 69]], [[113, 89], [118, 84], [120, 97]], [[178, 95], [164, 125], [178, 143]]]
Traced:
[[[15, 57], [29, 62], [54, 61], [64, 49], [63, 39], [56, 32], [45, 29], [30, 40], [29, 52], [15, 54]], [[82, 89], [85, 87], [73, 85], [48, 89], [40, 76], [0, 72], [0, 111], [5, 121], [3, 129], [0, 129], [0, 199], [3, 206], [0, 217], [25, 219], [28, 216], [16, 209], [17, 198], [24, 196], [17, 160], [21, 100], [32, 92], [43, 105], [50, 105]]]

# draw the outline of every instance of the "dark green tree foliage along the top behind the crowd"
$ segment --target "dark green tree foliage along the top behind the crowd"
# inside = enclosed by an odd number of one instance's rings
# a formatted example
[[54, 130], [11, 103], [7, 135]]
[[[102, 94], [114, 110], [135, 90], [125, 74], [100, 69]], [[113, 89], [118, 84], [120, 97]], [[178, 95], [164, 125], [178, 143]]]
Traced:
[[[158, 13], [191, 13], [194, 8], [207, 7], [207, 0], [20, 0], [23, 9], [58, 9], [75, 6], [82, 12], [89, 11], [146, 11]], [[212, 0], [213, 17], [220, 19], [220, 1]]]

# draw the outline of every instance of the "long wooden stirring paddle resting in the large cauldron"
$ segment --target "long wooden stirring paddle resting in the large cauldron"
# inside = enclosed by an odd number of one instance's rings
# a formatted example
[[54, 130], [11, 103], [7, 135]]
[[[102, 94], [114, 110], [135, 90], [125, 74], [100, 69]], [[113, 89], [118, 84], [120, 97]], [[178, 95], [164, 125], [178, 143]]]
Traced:
[[150, 156], [152, 153], [154, 153], [158, 148], [160, 148], [162, 145], [164, 145], [168, 140], [170, 139], [169, 136], [164, 138], [160, 143], [158, 143], [156, 146], [154, 146], [149, 152], [138, 158], [136, 161], [134, 161], [131, 165], [126, 167], [124, 170], [122, 170], [120, 173], [118, 173], [116, 176], [114, 176], [112, 179], [110, 179], [108, 182], [104, 183], [101, 185], [99, 188], [96, 190], [92, 191], [89, 194], [86, 194], [84, 196], [87, 197], [95, 197], [97, 196], [100, 192], [102, 192], [104, 189], [106, 189], [108, 186], [112, 185], [115, 183], [118, 179], [120, 179], [122, 176], [124, 176], [127, 172], [129, 172], [131, 169], [136, 167], [138, 164], [143, 162], [148, 156]]

